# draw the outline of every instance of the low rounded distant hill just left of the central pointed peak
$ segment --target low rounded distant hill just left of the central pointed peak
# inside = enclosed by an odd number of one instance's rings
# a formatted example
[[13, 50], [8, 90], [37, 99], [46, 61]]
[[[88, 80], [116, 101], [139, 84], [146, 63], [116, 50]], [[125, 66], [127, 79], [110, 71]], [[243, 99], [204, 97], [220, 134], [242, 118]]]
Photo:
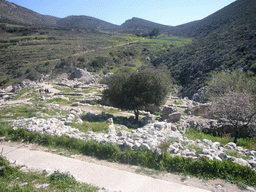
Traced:
[[96, 30], [118, 30], [119, 26], [89, 16], [68, 16], [58, 20], [58, 26], [71, 28], [88, 28]]

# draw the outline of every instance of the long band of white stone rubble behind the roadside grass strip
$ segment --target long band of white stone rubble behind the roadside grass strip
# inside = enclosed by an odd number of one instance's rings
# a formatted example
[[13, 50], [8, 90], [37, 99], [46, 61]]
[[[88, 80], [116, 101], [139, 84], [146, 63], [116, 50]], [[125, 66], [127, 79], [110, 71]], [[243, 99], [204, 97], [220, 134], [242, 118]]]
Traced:
[[[74, 111], [74, 114], [77, 114], [77, 112]], [[219, 142], [212, 142], [208, 139], [203, 139], [202, 141], [199, 139], [196, 141], [189, 140], [172, 123], [155, 122], [132, 130], [131, 132], [121, 130], [117, 134], [113, 134], [115, 133], [114, 124], [111, 122], [110, 134], [95, 133], [92, 131], [84, 133], [66, 125], [65, 122], [67, 119], [73, 120], [76, 117], [74, 114], [69, 113], [68, 117], [62, 120], [57, 118], [42, 119], [33, 117], [14, 120], [12, 124], [14, 129], [23, 128], [30, 132], [46, 133], [56, 137], [65, 135], [68, 138], [73, 137], [82, 141], [94, 140], [100, 143], [114, 143], [124, 149], [152, 150], [156, 155], [161, 155], [162, 149], [167, 148], [172, 156], [182, 156], [191, 159], [206, 157], [219, 161], [227, 159], [256, 170], [256, 151], [243, 149], [242, 147], [236, 146], [235, 143], [228, 143], [225, 146], [221, 146]], [[228, 155], [231, 153], [236, 153], [238, 157]]]

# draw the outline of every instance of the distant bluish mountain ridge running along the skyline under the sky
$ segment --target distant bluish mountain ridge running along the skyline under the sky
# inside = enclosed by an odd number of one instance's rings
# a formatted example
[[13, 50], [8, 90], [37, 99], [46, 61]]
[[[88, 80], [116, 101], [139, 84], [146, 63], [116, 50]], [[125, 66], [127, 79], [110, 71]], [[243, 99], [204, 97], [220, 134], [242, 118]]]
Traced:
[[[201, 20], [192, 21], [178, 26], [171, 26], [155, 23], [138, 17], [128, 19], [121, 25], [115, 25], [110, 22], [85, 15], [73, 15], [67, 16], [65, 18], [57, 18], [53, 16], [41, 15], [27, 8], [18, 6], [14, 3], [10, 3], [6, 0], [0, 0], [0, 11], [2, 11], [2, 14], [0, 14], [0, 22], [30, 24], [37, 26], [44, 25], [71, 28], [94, 28], [96, 30], [107, 31], [132, 31], [141, 29], [152, 30], [153, 28], [159, 28], [161, 32], [176, 36], [203, 37], [209, 34], [211, 31], [219, 28], [226, 22], [231, 22], [232, 20], [237, 19], [240, 15], [234, 17], [232, 9], [237, 9], [241, 3], [250, 1], [251, 0], [237, 0]], [[2, 8], [2, 4], [5, 4], [9, 10], [16, 9], [16, 13], [13, 14], [13, 11], [8, 11], [8, 9], [4, 10]], [[17, 14], [18, 11], [20, 11], [21, 14]], [[227, 12], [228, 15], [223, 14], [223, 12]], [[22, 15], [22, 13], [24, 15]]]

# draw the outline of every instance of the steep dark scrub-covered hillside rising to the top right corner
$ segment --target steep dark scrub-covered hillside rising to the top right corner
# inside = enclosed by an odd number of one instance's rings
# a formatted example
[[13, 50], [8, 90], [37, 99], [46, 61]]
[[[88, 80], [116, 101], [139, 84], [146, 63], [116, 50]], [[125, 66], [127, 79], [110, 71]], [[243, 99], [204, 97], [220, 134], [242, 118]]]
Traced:
[[214, 71], [256, 74], [255, 18], [256, 1], [238, 0], [201, 21], [178, 27], [179, 32], [175, 27], [180, 35], [197, 37], [190, 45], [158, 58], [165, 60], [183, 87], [183, 96], [192, 97]]

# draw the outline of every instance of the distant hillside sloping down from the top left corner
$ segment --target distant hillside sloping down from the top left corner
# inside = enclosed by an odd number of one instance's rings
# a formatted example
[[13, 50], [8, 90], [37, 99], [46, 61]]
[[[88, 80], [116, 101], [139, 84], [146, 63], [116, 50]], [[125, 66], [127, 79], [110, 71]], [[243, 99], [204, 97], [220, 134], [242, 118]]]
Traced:
[[0, 23], [53, 26], [58, 20], [57, 17], [41, 15], [6, 0], [0, 0]]

